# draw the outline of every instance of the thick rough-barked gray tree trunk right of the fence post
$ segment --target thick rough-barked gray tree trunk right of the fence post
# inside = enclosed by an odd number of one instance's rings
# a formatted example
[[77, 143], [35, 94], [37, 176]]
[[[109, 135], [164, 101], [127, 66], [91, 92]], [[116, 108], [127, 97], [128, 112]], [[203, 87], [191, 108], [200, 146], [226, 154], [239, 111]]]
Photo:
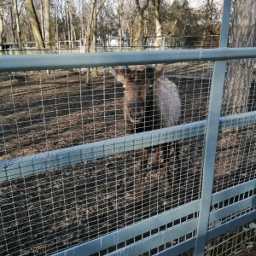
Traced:
[[[236, 1], [231, 27], [231, 47], [254, 47], [256, 43], [256, 1]], [[247, 112], [253, 73], [253, 59], [230, 60], [224, 84], [222, 114]]]

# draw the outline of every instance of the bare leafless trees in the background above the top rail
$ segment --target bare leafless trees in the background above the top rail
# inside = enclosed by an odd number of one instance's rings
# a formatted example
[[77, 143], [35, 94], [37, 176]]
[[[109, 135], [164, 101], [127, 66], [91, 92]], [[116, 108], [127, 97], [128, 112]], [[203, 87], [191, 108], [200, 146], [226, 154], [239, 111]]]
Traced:
[[[130, 38], [135, 50], [139, 38], [169, 35], [218, 34], [221, 7], [207, 0], [196, 8], [189, 0], [2, 0], [0, 47], [15, 42], [35, 42], [36, 48], [55, 46], [57, 41], [84, 38], [84, 49], [94, 51], [97, 38]], [[200, 10], [200, 11], [199, 11]], [[186, 42], [189, 44], [189, 42]], [[0, 48], [1, 49], [1, 48]]]

